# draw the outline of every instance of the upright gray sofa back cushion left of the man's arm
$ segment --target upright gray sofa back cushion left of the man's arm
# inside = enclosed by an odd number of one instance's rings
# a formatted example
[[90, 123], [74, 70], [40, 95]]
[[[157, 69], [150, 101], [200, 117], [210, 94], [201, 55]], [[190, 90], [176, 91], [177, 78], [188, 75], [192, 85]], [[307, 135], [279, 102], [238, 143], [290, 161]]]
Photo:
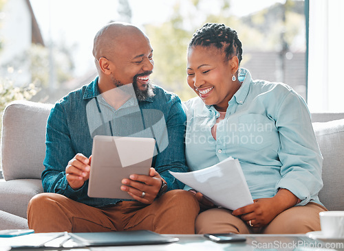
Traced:
[[41, 178], [51, 108], [51, 104], [13, 101], [3, 111], [1, 163], [5, 180]]

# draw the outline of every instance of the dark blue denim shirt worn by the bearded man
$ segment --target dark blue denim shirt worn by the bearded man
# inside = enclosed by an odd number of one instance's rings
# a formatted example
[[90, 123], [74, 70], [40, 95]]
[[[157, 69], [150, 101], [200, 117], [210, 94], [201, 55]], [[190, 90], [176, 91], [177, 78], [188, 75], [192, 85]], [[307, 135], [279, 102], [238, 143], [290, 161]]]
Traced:
[[[135, 123], [132, 123], [133, 121], [127, 119], [127, 117], [126, 119], [120, 119], [122, 116], [121, 112], [124, 110], [136, 109], [138, 107], [140, 112], [147, 113], [151, 110], [158, 110], [162, 114], [162, 118], [166, 122], [165, 131], [168, 135], [166, 136], [168, 145], [164, 145], [160, 152], [153, 157], [152, 167], [166, 180], [168, 190], [182, 189], [184, 184], [171, 176], [168, 170], [178, 172], [188, 170], [185, 165], [184, 154], [186, 116], [177, 95], [166, 92], [158, 86], [154, 86], [153, 91], [155, 96], [149, 97], [144, 101], [138, 101], [138, 106], [131, 106], [130, 100], [127, 102], [129, 105], [126, 104], [127, 107], [124, 105], [118, 110], [109, 106], [104, 100], [99, 100], [99, 105], [103, 113], [107, 110], [108, 113], [114, 115], [114, 120], [111, 121], [113, 125], [118, 121], [118, 126], [113, 128], [114, 136], [132, 134], [130, 131], [133, 130]], [[92, 137], [95, 134], [104, 134], [101, 130], [97, 132], [97, 130], [90, 130], [89, 128], [90, 121], [100, 121], [100, 114], [90, 115], [87, 111], [89, 108], [87, 104], [94, 102], [96, 97], [101, 97], [99, 95], [97, 77], [88, 86], [85, 85], [56, 102], [47, 120], [46, 152], [43, 162], [45, 170], [42, 173], [45, 192], [60, 193], [72, 200], [97, 207], [116, 204], [120, 200], [89, 198], [87, 196], [88, 181], [80, 189], [72, 189], [67, 182], [65, 168], [68, 161], [77, 153], [89, 157], [92, 154]], [[112, 112], [109, 112], [109, 109], [112, 109]], [[128, 112], [125, 113], [128, 114]], [[156, 125], [160, 124], [155, 123]], [[125, 134], [125, 132], [128, 133]]]

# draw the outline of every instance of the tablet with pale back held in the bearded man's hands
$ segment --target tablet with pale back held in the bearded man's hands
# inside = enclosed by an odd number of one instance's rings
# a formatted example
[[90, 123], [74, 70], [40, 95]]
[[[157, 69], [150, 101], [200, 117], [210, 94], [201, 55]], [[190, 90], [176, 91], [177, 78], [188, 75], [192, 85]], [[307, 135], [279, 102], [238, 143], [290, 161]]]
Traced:
[[152, 138], [94, 136], [89, 197], [133, 199], [120, 190], [122, 179], [131, 174], [149, 175], [154, 148]]

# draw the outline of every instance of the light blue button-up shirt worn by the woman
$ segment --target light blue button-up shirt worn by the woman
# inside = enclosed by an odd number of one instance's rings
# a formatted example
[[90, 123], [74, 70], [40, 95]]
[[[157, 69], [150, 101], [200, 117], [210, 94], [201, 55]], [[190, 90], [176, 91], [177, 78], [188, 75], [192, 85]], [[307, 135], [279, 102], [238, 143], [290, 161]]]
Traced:
[[252, 80], [246, 69], [238, 77], [242, 84], [217, 124], [217, 140], [211, 128], [219, 112], [200, 97], [184, 103], [187, 165], [195, 171], [232, 156], [253, 199], [288, 189], [301, 200], [298, 205], [321, 204], [323, 158], [305, 101], [286, 84]]

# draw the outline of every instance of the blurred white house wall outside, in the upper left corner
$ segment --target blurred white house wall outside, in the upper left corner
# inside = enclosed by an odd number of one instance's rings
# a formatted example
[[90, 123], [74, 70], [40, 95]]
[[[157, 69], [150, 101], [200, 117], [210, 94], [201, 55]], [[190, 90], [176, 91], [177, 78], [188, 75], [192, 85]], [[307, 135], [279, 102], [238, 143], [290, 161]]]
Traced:
[[[28, 63], [23, 64], [21, 58], [31, 46], [32, 21], [30, 11], [25, 0], [8, 0], [2, 12], [0, 37], [3, 40], [3, 49], [0, 51], [1, 77], [10, 77], [14, 84], [29, 84], [31, 80]], [[28, 61], [27, 61], [28, 62]], [[8, 67], [14, 67], [12, 74]]]

